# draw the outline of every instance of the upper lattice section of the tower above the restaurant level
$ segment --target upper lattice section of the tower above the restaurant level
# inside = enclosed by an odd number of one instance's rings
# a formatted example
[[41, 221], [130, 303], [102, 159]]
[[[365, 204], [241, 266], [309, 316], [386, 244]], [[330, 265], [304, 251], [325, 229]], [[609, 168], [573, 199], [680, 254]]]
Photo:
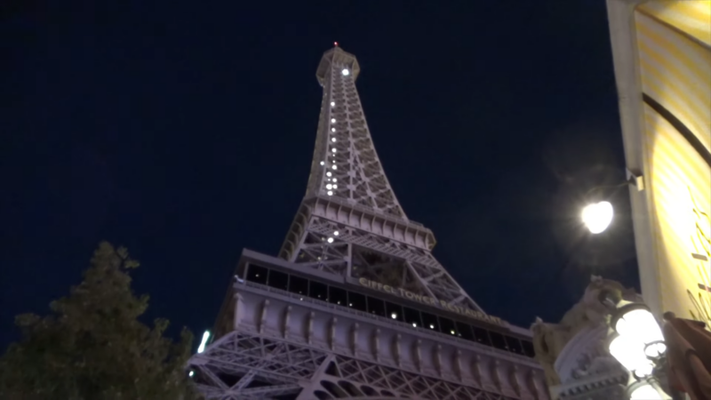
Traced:
[[375, 280], [481, 311], [430, 252], [432, 231], [407, 218], [380, 163], [356, 90], [360, 65], [324, 52], [324, 88], [307, 192], [279, 256], [339, 276]]

